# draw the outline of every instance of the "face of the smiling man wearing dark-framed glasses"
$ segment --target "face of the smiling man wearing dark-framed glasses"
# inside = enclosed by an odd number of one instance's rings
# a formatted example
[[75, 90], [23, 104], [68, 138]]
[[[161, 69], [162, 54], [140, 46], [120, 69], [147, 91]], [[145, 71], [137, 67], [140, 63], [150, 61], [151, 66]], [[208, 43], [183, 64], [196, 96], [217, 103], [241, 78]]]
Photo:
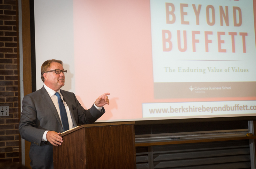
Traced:
[[[52, 62], [48, 71], [55, 69], [64, 70], [60, 63]], [[56, 74], [55, 71], [44, 73], [44, 79], [44, 84], [55, 92], [60, 90], [65, 84], [65, 75], [62, 72], [60, 74]]]

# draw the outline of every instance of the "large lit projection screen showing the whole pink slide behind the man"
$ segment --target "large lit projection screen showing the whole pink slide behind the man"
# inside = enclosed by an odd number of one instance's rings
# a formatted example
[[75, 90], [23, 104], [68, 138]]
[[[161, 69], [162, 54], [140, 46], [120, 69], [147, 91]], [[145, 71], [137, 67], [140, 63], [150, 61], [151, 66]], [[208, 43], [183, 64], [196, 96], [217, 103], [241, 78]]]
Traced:
[[110, 92], [98, 121], [256, 115], [254, 0], [49, 3], [35, 1], [36, 67], [63, 60], [84, 108]]

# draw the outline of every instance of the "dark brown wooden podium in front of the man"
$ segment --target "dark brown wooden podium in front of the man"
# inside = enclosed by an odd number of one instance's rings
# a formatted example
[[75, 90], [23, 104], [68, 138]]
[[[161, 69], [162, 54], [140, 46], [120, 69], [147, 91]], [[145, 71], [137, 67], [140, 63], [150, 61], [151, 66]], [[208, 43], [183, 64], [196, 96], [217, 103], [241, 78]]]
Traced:
[[136, 169], [134, 124], [95, 123], [61, 133], [54, 169]]

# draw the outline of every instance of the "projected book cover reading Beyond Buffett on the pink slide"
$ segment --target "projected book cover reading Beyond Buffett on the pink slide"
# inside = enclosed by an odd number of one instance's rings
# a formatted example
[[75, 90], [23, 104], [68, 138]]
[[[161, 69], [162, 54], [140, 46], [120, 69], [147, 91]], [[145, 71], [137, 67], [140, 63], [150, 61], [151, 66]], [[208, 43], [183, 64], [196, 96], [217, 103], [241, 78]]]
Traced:
[[252, 1], [151, 0], [150, 11], [155, 98], [252, 96]]

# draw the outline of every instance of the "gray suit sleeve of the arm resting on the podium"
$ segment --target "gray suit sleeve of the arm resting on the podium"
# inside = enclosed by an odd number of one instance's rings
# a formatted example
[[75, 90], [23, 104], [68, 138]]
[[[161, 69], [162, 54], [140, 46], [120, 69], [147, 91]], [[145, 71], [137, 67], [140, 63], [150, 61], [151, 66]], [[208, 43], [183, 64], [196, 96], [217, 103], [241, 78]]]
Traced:
[[36, 128], [36, 120], [35, 102], [33, 98], [26, 95], [22, 100], [22, 112], [19, 124], [20, 136], [31, 143], [40, 145], [46, 130]]

